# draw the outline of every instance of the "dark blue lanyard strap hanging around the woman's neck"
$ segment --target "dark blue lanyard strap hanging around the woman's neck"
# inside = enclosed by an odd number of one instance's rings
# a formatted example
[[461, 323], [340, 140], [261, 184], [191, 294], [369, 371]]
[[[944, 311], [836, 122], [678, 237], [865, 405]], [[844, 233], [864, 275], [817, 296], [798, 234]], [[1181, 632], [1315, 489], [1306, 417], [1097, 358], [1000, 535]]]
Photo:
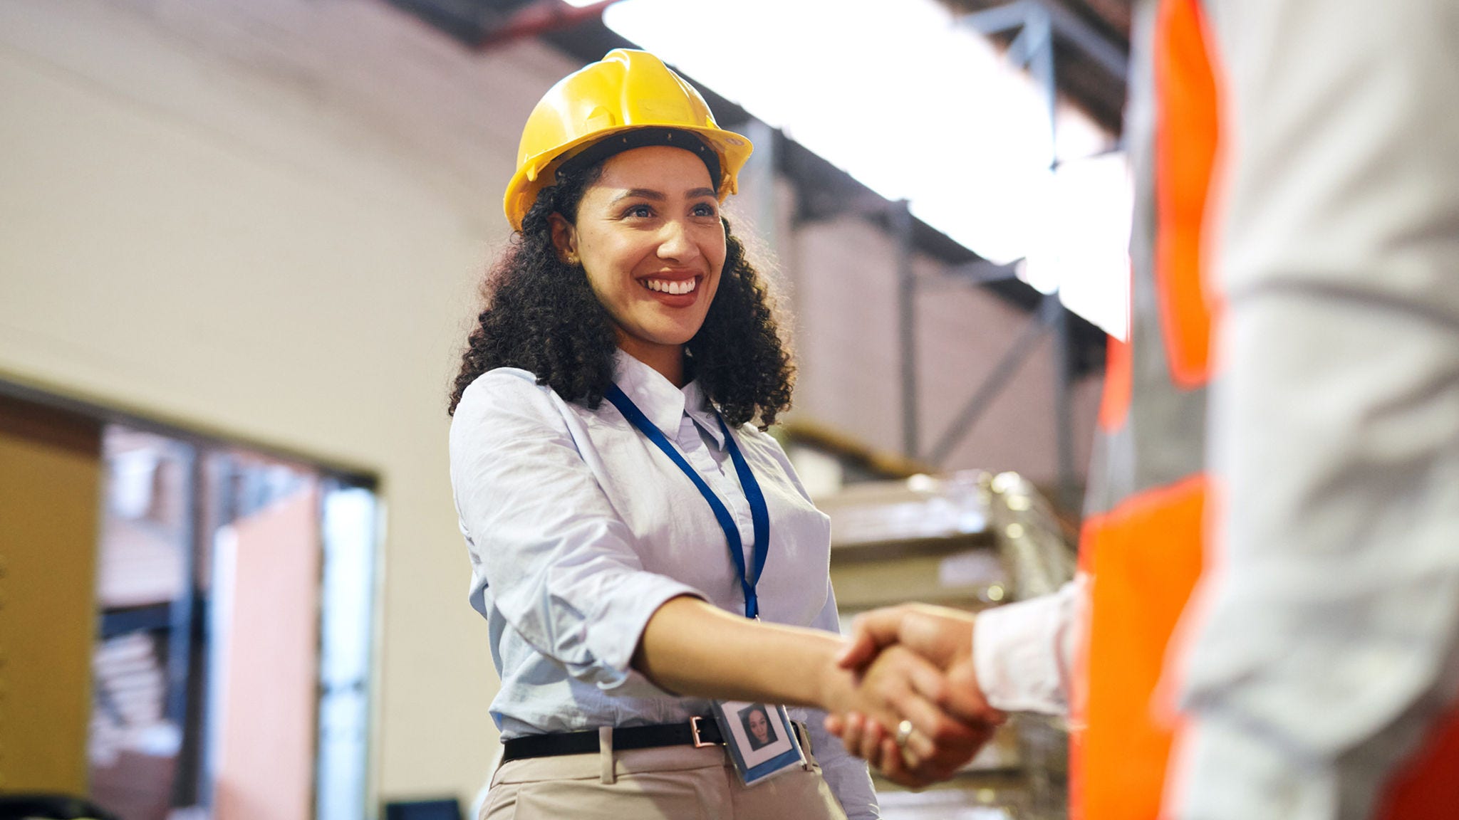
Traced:
[[740, 446], [734, 442], [734, 436], [730, 435], [730, 428], [725, 426], [725, 420], [715, 413], [715, 420], [719, 422], [719, 429], [725, 435], [725, 449], [730, 451], [730, 460], [734, 461], [734, 471], [740, 476], [740, 487], [744, 490], [744, 498], [750, 502], [750, 521], [754, 525], [754, 573], [746, 572], [744, 568], [744, 544], [740, 541], [740, 528], [735, 527], [734, 518], [730, 517], [730, 511], [725, 509], [719, 496], [709, 489], [709, 484], [689, 465], [689, 461], [674, 448], [662, 430], [654, 426], [648, 420], [648, 416], [633, 404], [627, 395], [619, 390], [619, 385], [610, 385], [604, 397], [623, 413], [623, 417], [629, 420], [641, 433], [648, 436], [648, 441], [658, 445], [664, 451], [664, 455], [670, 458], [686, 476], [694, 483], [699, 495], [705, 496], [709, 502], [709, 509], [715, 512], [715, 518], [719, 521], [719, 528], [725, 531], [725, 541], [730, 544], [730, 557], [734, 560], [734, 568], [740, 573], [740, 588], [744, 589], [744, 616], [746, 617], [760, 617], [760, 600], [754, 592], [756, 585], [760, 582], [760, 573], [765, 572], [765, 559], [770, 556], [770, 512], [765, 506], [765, 493], [760, 492], [760, 483], [754, 480], [754, 473], [750, 471], [750, 465], [744, 461], [744, 454], [740, 452]]

